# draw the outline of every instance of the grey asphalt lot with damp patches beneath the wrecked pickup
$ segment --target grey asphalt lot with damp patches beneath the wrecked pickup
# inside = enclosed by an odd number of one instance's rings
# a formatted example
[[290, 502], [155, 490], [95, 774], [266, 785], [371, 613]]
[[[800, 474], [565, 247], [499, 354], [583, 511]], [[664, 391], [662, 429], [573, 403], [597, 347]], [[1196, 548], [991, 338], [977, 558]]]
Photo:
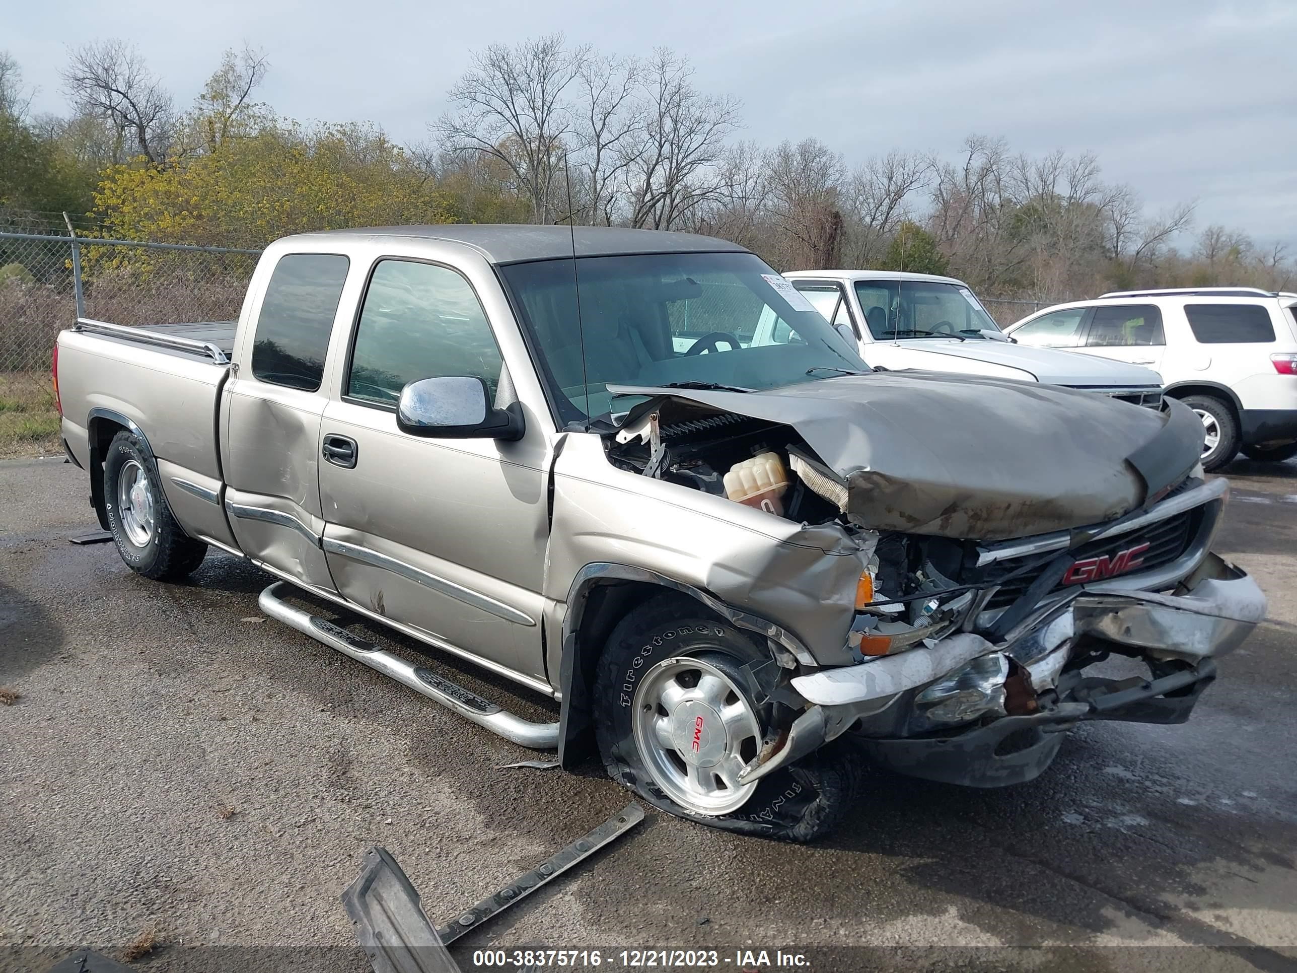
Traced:
[[[650, 811], [458, 961], [686, 947], [732, 969], [734, 950], [773, 965], [782, 948], [821, 970], [1297, 970], [1297, 463], [1230, 472], [1218, 549], [1272, 618], [1187, 725], [1084, 725], [1044, 777], [999, 791], [877, 772], [813, 847]], [[594, 765], [497, 769], [534, 754], [263, 619], [270, 579], [235, 558], [161, 585], [110, 544], [69, 544], [95, 528], [86, 494], [58, 461], [0, 462], [0, 688], [19, 694], [0, 706], [4, 969], [87, 944], [139, 970], [367, 970], [339, 893], [370, 845], [441, 921], [629, 799]]]

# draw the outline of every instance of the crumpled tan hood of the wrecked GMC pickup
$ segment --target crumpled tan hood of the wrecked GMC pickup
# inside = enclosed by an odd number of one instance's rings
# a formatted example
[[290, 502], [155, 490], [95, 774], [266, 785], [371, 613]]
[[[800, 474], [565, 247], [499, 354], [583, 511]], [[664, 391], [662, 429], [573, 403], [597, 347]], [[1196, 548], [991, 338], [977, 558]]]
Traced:
[[847, 488], [844, 512], [875, 529], [970, 540], [1112, 520], [1197, 464], [1202, 423], [1091, 392], [936, 372], [874, 372], [763, 392], [664, 390], [626, 416], [717, 411], [791, 426]]

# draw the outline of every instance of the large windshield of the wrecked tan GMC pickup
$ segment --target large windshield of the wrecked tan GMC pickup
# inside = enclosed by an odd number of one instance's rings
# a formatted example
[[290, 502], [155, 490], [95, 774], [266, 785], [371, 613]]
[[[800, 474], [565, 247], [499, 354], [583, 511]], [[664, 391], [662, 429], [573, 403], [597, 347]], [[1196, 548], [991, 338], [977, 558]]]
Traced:
[[[613, 385], [792, 385], [866, 372], [856, 350], [751, 253], [582, 257], [499, 269], [565, 423], [624, 413]], [[582, 344], [584, 332], [584, 344]]]

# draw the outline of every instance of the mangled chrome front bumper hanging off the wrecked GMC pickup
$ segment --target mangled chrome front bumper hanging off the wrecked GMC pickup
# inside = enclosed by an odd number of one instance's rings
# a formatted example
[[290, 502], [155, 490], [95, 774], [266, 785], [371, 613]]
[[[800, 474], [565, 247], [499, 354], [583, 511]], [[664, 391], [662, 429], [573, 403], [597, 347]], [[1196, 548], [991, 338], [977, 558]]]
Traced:
[[[922, 736], [865, 736], [861, 742], [875, 759], [903, 773], [995, 787], [1040, 775], [1066, 732], [1082, 720], [1183, 723], [1215, 679], [1214, 658], [1233, 651], [1265, 618], [1266, 598], [1246, 572], [1215, 554], [1208, 554], [1179, 590], [1160, 594], [1121, 583], [1088, 585], [1067, 601], [1045, 606], [1000, 643], [962, 632], [860, 666], [798, 676], [792, 688], [809, 704], [794, 724], [802, 730], [798, 750], [808, 752], [857, 715], [883, 710], [903, 694], [994, 653], [1026, 671], [1040, 712]], [[1143, 658], [1154, 677], [1112, 680], [1065, 671], [1080, 641], [1110, 643], [1124, 655]], [[768, 762], [795, 759], [778, 756]], [[759, 765], [747, 776], [755, 780], [767, 772]]]

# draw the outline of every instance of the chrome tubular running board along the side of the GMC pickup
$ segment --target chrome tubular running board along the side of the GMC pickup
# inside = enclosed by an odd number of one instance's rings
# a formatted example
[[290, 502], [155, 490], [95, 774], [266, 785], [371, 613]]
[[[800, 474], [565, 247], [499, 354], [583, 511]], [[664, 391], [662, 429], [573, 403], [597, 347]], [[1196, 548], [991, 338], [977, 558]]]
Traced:
[[311, 615], [309, 611], [294, 608], [283, 601], [284, 590], [289, 585], [285, 581], [275, 581], [261, 593], [257, 605], [263, 612], [276, 621], [296, 628], [302, 634], [307, 634], [316, 642], [336, 649], [342, 655], [349, 655], [357, 662], [363, 662], [371, 669], [377, 669], [384, 676], [390, 676], [397, 682], [410, 686], [416, 693], [422, 693], [433, 702], [441, 703], [466, 720], [485, 727], [492, 733], [498, 733], [519, 746], [532, 750], [554, 750], [559, 745], [558, 723], [532, 723], [521, 716], [515, 716], [507, 710], [502, 710], [495, 703], [482, 699], [476, 693], [442, 679], [436, 672], [423, 667], [412, 666], [405, 659], [384, 651], [374, 642], [359, 636], [354, 636], [340, 625]]

